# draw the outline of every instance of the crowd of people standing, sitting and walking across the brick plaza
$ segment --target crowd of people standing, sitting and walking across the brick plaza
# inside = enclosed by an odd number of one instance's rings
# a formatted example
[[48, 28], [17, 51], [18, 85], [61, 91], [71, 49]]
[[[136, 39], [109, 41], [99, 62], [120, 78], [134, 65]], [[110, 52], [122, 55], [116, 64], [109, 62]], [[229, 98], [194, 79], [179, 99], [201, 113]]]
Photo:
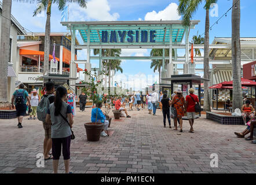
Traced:
[[[178, 89], [171, 94], [169, 98], [167, 94], [154, 91], [147, 93], [136, 92], [125, 96], [100, 95], [100, 101], [92, 109], [91, 121], [93, 123], [103, 123], [101, 136], [107, 136], [105, 131], [108, 129], [109, 121], [107, 115], [103, 113], [101, 108], [114, 108], [116, 111], [124, 112], [127, 118], [130, 118], [126, 106], [132, 111], [133, 108], [137, 111], [145, 109], [148, 105], [148, 114], [156, 116], [156, 108], [159, 106], [163, 114], [163, 125], [166, 128], [166, 118], [171, 128], [171, 119], [174, 121], [174, 130], [180, 127], [180, 132], [183, 131], [182, 117], [186, 113], [189, 120], [189, 132], [194, 133], [193, 124], [195, 121], [196, 110], [195, 105], [199, 102], [199, 98], [194, 94], [194, 89], [189, 89], [189, 95], [183, 97], [181, 89]], [[45, 93], [42, 97], [33, 89], [31, 94], [24, 90], [24, 84], [20, 84], [19, 90], [14, 91], [12, 97], [12, 106], [16, 107], [18, 128], [23, 128], [22, 121], [27, 108], [30, 110], [29, 120], [35, 119], [36, 113], [38, 119], [42, 121], [43, 129], [45, 130], [45, 138], [43, 140], [43, 156], [45, 160], [53, 159], [54, 173], [58, 172], [58, 161], [61, 156], [61, 150], [64, 158], [65, 172], [70, 173], [70, 145], [71, 145], [71, 128], [74, 124], [74, 106], [69, 101], [67, 89], [63, 86], [58, 86], [55, 89], [53, 82], [45, 84]], [[80, 112], [85, 111], [87, 95], [82, 92], [78, 97], [80, 103]], [[103, 104], [104, 103], [104, 104]], [[174, 113], [171, 110], [175, 110]], [[33, 117], [32, 117], [33, 116]], [[242, 116], [247, 128], [243, 132], [235, 132], [237, 137], [244, 138], [250, 133], [246, 140], [253, 140], [253, 130], [256, 125], [256, 113], [251, 102], [247, 99], [242, 107]], [[178, 126], [179, 124], [179, 126]], [[253, 140], [256, 143], [256, 140]], [[52, 150], [52, 153], [50, 151]]]

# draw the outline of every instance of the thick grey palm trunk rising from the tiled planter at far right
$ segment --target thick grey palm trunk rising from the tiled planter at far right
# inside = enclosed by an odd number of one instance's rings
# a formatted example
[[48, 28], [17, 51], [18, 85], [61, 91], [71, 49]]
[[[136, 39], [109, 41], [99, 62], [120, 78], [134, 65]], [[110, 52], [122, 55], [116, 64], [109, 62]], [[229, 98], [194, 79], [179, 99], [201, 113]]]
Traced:
[[[236, 6], [235, 6], [236, 3]], [[240, 1], [233, 0], [232, 8], [232, 78], [233, 78], [233, 112], [242, 108], [241, 85], [241, 48], [240, 48]]]

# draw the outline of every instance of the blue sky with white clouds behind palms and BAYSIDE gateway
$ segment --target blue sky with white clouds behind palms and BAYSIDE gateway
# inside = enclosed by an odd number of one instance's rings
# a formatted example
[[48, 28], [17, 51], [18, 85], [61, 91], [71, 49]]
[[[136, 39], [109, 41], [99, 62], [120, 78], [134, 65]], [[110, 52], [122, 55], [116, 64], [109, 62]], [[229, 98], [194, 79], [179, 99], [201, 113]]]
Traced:
[[[171, 4], [172, 3], [172, 4]], [[70, 20], [73, 21], [100, 21], [100, 20], [177, 20], [178, 17], [175, 4], [177, 0], [89, 0], [87, 9], [79, 8], [78, 5], [70, 5]], [[170, 5], [171, 4], [171, 5]], [[232, 6], [232, 1], [218, 1], [218, 16], [222, 16]], [[246, 0], [241, 1], [241, 37], [256, 37], [255, 12], [256, 1]], [[36, 3], [20, 3], [13, 1], [12, 14], [23, 27], [30, 29], [33, 32], [44, 32], [46, 15], [41, 14], [38, 17], [32, 17], [33, 11], [36, 8]], [[153, 12], [155, 11], [155, 12]], [[51, 31], [60, 32], [67, 31], [60, 24], [61, 12], [57, 10], [57, 6], [53, 5], [51, 18]], [[213, 24], [219, 17], [210, 17], [210, 25]], [[203, 4], [200, 5], [198, 11], [193, 16], [193, 20], [200, 20], [195, 29], [191, 29], [189, 40], [193, 35], [204, 33], [205, 10]], [[214, 37], [231, 37], [231, 11], [226, 17], [222, 18], [217, 25], [210, 31], [210, 43]], [[123, 56], [149, 56], [150, 50], [135, 50], [123, 51]], [[181, 51], [180, 56], [183, 55]], [[85, 59], [86, 51], [81, 52], [79, 59]], [[97, 66], [97, 61], [92, 61], [93, 66]], [[83, 68], [83, 65], [80, 65]], [[150, 61], [123, 61], [122, 68], [125, 75], [156, 75], [150, 69]], [[147, 83], [147, 82], [146, 82]]]

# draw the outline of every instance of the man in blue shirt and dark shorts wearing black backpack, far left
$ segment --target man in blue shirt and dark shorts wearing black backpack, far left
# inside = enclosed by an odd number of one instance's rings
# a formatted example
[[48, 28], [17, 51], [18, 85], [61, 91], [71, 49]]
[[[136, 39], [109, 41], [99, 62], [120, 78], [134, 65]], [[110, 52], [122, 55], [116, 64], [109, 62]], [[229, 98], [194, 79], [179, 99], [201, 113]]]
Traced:
[[[15, 101], [14, 101], [15, 100]], [[22, 128], [22, 120], [23, 116], [26, 113], [27, 105], [31, 108], [30, 97], [28, 96], [28, 91], [24, 90], [24, 84], [21, 83], [19, 89], [13, 92], [12, 96], [12, 108], [14, 109], [14, 105], [16, 108], [17, 118], [18, 118], [18, 128]]]

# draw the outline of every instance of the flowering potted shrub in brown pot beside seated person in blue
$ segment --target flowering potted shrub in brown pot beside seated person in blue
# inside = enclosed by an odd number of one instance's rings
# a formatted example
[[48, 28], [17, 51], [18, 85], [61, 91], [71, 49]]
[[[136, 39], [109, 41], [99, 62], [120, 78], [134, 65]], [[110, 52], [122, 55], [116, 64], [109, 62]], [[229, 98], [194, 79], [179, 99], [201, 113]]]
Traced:
[[[93, 104], [97, 104], [100, 102], [100, 97], [97, 94], [97, 88], [100, 86], [101, 81], [98, 80], [98, 75], [96, 70], [92, 72], [88, 72], [85, 69], [85, 73], [88, 76], [88, 82], [84, 82], [88, 85], [88, 87], [83, 88], [83, 92], [86, 92], [87, 97], [93, 102]], [[97, 109], [98, 113], [98, 109]], [[96, 121], [97, 121], [97, 113], [96, 113]], [[88, 141], [98, 141], [100, 140], [100, 133], [103, 129], [103, 123], [85, 123], [86, 136]]]

